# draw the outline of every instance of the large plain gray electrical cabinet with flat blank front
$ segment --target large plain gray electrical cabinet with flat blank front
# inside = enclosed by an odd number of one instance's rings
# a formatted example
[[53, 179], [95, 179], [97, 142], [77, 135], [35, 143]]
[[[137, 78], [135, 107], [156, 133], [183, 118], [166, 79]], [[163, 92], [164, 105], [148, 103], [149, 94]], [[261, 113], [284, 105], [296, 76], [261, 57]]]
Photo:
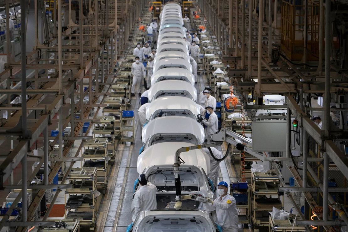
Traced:
[[252, 127], [254, 151], [285, 151], [286, 120], [254, 121]]

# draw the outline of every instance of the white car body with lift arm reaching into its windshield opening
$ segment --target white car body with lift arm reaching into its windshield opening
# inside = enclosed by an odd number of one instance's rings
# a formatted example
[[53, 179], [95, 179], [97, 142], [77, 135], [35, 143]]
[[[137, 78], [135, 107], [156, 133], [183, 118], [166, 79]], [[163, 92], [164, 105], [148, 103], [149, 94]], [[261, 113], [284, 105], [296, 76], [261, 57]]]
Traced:
[[[137, 171], [148, 177], [148, 181], [156, 185], [157, 208], [164, 208], [175, 202], [175, 182], [173, 164], [175, 152], [181, 147], [195, 144], [185, 142], [157, 143], [147, 147], [138, 157]], [[210, 171], [210, 159], [202, 150], [182, 152], [180, 158], [185, 161], [179, 168], [181, 194], [200, 194], [213, 198], [211, 182], [207, 175]], [[158, 175], [160, 174], [160, 175]], [[135, 187], [135, 191], [137, 188]], [[193, 200], [182, 202], [182, 208], [198, 208]]]

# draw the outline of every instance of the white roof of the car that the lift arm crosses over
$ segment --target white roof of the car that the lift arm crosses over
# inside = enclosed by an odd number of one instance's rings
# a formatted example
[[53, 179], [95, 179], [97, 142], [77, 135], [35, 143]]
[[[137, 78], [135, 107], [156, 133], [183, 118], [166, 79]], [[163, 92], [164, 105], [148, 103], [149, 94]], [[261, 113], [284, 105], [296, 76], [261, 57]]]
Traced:
[[[149, 146], [138, 157], [137, 171], [142, 174], [144, 170], [152, 166], [172, 166], [174, 164], [175, 152], [181, 147], [194, 146], [192, 143], [167, 142], [157, 143]], [[208, 175], [210, 172], [210, 159], [208, 155], [200, 149], [182, 152], [180, 157], [185, 161], [185, 166], [195, 166], [202, 168]], [[183, 165], [182, 165], [183, 166]]]

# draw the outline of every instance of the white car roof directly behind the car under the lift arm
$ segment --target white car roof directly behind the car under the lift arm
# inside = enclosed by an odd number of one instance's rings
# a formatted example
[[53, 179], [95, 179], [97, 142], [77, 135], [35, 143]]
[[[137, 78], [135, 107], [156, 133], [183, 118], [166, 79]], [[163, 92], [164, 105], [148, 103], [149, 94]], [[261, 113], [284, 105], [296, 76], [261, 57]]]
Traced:
[[143, 128], [143, 143], [145, 144], [150, 136], [163, 133], [191, 134], [198, 138], [200, 144], [204, 143], [203, 126], [195, 119], [185, 116], [166, 116], [151, 120]]

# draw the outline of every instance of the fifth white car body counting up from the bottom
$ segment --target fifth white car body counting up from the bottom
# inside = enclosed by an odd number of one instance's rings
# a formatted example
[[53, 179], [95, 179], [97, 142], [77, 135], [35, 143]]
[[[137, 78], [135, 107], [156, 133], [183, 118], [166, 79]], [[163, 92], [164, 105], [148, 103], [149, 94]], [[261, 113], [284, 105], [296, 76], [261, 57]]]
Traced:
[[164, 96], [184, 96], [197, 101], [197, 89], [191, 83], [181, 80], [166, 80], [155, 83], [149, 89], [149, 101]]

